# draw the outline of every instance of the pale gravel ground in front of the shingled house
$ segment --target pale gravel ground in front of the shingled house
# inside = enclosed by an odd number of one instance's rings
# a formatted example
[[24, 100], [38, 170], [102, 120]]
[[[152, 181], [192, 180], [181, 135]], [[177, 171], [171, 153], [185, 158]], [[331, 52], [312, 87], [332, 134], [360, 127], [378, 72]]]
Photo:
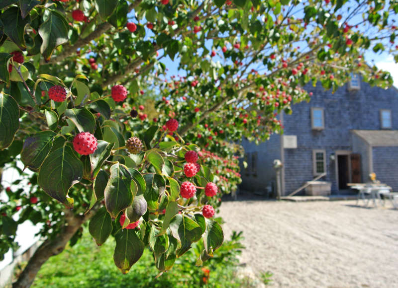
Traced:
[[241, 262], [270, 287], [398, 287], [398, 210], [355, 201], [225, 201], [225, 237], [243, 230]]

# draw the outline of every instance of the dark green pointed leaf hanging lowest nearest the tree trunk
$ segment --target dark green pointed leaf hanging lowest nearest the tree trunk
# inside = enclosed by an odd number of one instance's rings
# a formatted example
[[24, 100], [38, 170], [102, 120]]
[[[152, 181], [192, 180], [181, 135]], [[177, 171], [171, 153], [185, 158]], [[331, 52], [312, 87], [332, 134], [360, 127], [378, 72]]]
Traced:
[[112, 219], [105, 207], [102, 207], [90, 220], [89, 231], [98, 246], [102, 245], [112, 232]]

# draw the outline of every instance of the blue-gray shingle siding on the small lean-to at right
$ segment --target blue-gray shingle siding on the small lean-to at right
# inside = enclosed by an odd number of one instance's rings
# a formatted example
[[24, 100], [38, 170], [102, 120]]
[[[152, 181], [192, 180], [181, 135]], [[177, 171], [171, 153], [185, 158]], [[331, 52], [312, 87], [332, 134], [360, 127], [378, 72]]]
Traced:
[[377, 180], [398, 191], [398, 147], [373, 147], [373, 171]]

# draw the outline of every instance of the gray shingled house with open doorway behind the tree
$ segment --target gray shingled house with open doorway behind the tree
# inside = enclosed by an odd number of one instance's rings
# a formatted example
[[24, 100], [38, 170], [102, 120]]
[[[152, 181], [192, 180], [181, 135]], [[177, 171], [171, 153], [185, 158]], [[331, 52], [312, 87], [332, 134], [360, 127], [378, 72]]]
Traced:
[[313, 93], [311, 101], [280, 115], [283, 135], [259, 145], [242, 141], [248, 165], [241, 165], [240, 188], [275, 192], [273, 161], [280, 159], [282, 196], [323, 173], [318, 181], [331, 194], [347, 193], [347, 183], [366, 182], [371, 172], [398, 191], [397, 88], [371, 87], [355, 76], [334, 94], [320, 85], [305, 89]]

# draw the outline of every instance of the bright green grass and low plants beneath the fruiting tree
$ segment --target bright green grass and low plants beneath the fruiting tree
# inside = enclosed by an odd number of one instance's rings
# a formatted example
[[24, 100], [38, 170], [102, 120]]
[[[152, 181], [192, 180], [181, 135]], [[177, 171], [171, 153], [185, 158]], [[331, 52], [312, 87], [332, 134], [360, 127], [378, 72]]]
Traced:
[[231, 240], [216, 250], [214, 257], [203, 267], [195, 266], [201, 242], [176, 261], [173, 273], [159, 274], [152, 259], [152, 253], [145, 249], [142, 261], [126, 275], [114, 266], [112, 254], [114, 240], [97, 246], [87, 230], [82, 239], [64, 253], [54, 256], [40, 269], [34, 288], [183, 288], [183, 287], [254, 287], [248, 279], [236, 277], [237, 256], [244, 246], [240, 243], [242, 232], [233, 232]]

